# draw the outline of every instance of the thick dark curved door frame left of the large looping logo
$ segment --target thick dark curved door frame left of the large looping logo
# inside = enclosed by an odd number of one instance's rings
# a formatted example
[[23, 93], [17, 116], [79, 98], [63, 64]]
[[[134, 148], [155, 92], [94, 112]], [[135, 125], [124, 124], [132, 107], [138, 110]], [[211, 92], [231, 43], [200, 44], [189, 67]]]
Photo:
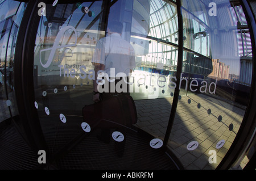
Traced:
[[[31, 28], [38, 16], [31, 16], [36, 9], [38, 1], [28, 3], [24, 12], [22, 22], [23, 27], [18, 32], [15, 50], [14, 65], [14, 84], [17, 107], [19, 110], [20, 120], [23, 125], [26, 141], [31, 148], [38, 153], [39, 150], [48, 151], [48, 146], [44, 140], [43, 132], [40, 127], [38, 112], [36, 111], [34, 102], [34, 43], [36, 31]], [[39, 19], [39, 18], [38, 18]], [[35, 36], [33, 36], [35, 35]], [[47, 161], [49, 155], [47, 154]]]

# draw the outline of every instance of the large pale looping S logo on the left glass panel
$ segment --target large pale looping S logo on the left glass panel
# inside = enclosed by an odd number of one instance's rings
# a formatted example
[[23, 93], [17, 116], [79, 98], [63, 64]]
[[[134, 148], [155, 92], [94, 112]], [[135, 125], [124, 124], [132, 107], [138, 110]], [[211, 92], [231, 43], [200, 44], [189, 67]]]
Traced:
[[[61, 39], [61, 37], [64, 36], [64, 33], [67, 30], [69, 30], [69, 32], [72, 32], [72, 30], [75, 32], [75, 44], [68, 44], [68, 45], [61, 45], [61, 46], [59, 46], [60, 39]], [[76, 43], [77, 43], [77, 31], [76, 31], [76, 28], [74, 28], [73, 26], [66, 26], [66, 27], [61, 28], [61, 30], [59, 31], [59, 33], [56, 36], [56, 39], [55, 39], [55, 41], [54, 41], [54, 43], [52, 45], [52, 48], [46, 48], [46, 49], [40, 50], [40, 64], [43, 66], [43, 68], [48, 68], [51, 65], [51, 63], [52, 63], [52, 60], [53, 60], [53, 57], [55, 55], [56, 49], [66, 48], [66, 47], [74, 47], [74, 46], [76, 46]], [[49, 51], [49, 50], [51, 50], [51, 52], [49, 53], [48, 60], [47, 60], [46, 64], [43, 64], [42, 60], [41, 60], [41, 53]]]

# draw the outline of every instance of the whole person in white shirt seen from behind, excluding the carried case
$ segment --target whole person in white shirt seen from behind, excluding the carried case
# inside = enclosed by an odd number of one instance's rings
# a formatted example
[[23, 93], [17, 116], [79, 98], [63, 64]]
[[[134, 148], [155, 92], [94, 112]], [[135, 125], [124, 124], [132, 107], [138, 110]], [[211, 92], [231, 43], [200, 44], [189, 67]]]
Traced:
[[[107, 86], [108, 89], [104, 87], [106, 91], [101, 92], [98, 90], [98, 77], [93, 81], [93, 101], [96, 103], [112, 98], [117, 94], [130, 95], [128, 85], [129, 73], [135, 68], [135, 52], [130, 42], [122, 39], [122, 30], [123, 25], [121, 22], [110, 22], [108, 26], [108, 36], [103, 37], [97, 42], [92, 64], [94, 65], [96, 75], [98, 75], [98, 71], [105, 72], [108, 78], [104, 79], [105, 83], [102, 87]], [[118, 91], [117, 89], [113, 90], [111, 89], [113, 84], [114, 88], [116, 88], [115, 85], [125, 85], [126, 87], [123, 89], [123, 87], [120, 86], [122, 91]], [[130, 123], [126, 123], [124, 126], [129, 127]], [[115, 129], [118, 129], [125, 135], [122, 142], [115, 141], [114, 144], [117, 155], [121, 157], [125, 148], [126, 131], [124, 127], [117, 127]], [[110, 128], [101, 128], [101, 132], [97, 137], [100, 141], [109, 143]]]

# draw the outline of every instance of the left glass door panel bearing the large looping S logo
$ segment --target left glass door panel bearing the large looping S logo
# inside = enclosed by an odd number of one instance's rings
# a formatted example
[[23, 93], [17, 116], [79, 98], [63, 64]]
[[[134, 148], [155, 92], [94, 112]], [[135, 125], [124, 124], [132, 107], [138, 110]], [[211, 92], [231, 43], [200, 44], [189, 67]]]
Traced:
[[84, 132], [81, 109], [93, 103], [92, 55], [105, 36], [102, 1], [56, 2], [38, 4], [34, 48], [34, 106], [51, 153]]

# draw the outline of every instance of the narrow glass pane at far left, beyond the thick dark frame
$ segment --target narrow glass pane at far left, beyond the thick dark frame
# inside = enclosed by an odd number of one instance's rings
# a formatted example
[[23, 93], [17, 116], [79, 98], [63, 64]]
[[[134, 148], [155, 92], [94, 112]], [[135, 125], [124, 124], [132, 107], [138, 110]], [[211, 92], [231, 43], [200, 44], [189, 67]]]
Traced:
[[25, 9], [26, 3], [0, 1], [0, 122], [19, 114], [13, 69], [16, 36]]

